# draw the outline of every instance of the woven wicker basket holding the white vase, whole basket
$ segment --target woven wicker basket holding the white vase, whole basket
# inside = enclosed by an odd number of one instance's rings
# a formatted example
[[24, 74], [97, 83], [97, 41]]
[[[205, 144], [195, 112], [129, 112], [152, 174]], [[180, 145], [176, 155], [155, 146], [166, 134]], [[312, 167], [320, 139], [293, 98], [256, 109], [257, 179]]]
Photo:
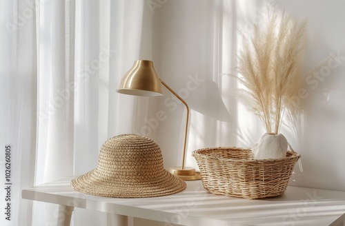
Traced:
[[204, 148], [193, 156], [208, 192], [248, 199], [283, 194], [300, 157], [288, 151], [286, 158], [255, 160], [251, 150], [237, 147]]

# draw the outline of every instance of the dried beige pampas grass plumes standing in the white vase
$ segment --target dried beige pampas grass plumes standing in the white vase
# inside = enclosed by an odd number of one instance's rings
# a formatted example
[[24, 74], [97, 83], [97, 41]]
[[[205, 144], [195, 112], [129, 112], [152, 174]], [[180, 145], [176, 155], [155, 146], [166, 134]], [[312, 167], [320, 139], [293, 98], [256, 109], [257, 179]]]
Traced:
[[243, 48], [238, 55], [237, 76], [244, 85], [239, 90], [242, 98], [259, 119], [268, 133], [278, 134], [284, 110], [294, 112], [293, 96], [299, 89], [299, 59], [306, 20], [293, 22], [282, 12], [278, 25], [277, 14], [268, 14], [265, 31], [254, 26], [250, 39], [240, 33]]

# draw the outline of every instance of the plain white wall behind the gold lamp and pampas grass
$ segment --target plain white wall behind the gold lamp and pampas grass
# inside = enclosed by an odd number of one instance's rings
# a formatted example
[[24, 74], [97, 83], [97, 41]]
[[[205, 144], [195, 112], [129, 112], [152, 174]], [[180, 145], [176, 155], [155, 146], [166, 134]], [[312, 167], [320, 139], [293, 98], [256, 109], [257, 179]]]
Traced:
[[[203, 147], [250, 147], [264, 127], [237, 103], [233, 72], [239, 49], [237, 30], [250, 33], [253, 21], [267, 4], [286, 10], [295, 19], [308, 19], [300, 121], [282, 133], [302, 154], [290, 184], [345, 190], [345, 1], [157, 1], [152, 14], [152, 60], [164, 81], [182, 94], [191, 107], [187, 165], [196, 166], [193, 150]], [[158, 7], [159, 6], [159, 7]], [[328, 59], [339, 55], [337, 60]], [[308, 77], [322, 61], [319, 76]], [[325, 76], [323, 76], [324, 74]], [[195, 81], [197, 79], [197, 81]], [[317, 80], [319, 79], [319, 81]], [[188, 91], [188, 92], [186, 92]], [[148, 134], [159, 143], [166, 167], [181, 165], [184, 107], [163, 97], [150, 99], [148, 119], [166, 114]], [[144, 119], [143, 119], [144, 120]], [[300, 123], [302, 122], [302, 123]]]

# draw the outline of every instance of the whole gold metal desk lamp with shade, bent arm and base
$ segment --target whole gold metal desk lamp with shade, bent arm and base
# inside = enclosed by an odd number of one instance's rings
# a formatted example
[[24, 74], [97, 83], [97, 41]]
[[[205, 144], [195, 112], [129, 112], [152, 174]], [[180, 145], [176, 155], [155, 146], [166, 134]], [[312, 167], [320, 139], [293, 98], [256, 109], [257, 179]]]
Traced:
[[139, 60], [135, 61], [134, 65], [124, 75], [119, 85], [117, 92], [121, 94], [130, 94], [135, 96], [162, 96], [161, 84], [163, 84], [172, 94], [174, 94], [187, 108], [187, 119], [186, 119], [186, 133], [184, 135], [184, 155], [182, 158], [181, 167], [171, 167], [169, 172], [184, 181], [195, 181], [200, 180], [200, 172], [196, 172], [192, 167], [185, 167], [184, 162], [186, 158], [186, 143], [187, 143], [187, 132], [188, 132], [188, 118], [189, 118], [189, 107], [181, 99], [174, 90], [172, 90], [164, 81], [161, 81], [153, 68], [152, 61]]

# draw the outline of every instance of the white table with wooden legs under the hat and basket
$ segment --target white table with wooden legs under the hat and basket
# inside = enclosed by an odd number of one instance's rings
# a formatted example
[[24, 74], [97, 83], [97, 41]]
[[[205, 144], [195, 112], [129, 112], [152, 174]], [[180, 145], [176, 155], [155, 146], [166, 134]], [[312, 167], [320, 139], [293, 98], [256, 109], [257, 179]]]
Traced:
[[288, 187], [282, 196], [246, 200], [208, 194], [201, 181], [157, 198], [106, 198], [76, 192], [71, 178], [23, 189], [22, 198], [59, 205], [57, 225], [69, 225], [75, 207], [115, 214], [117, 225], [128, 216], [180, 225], [345, 225], [345, 192]]

